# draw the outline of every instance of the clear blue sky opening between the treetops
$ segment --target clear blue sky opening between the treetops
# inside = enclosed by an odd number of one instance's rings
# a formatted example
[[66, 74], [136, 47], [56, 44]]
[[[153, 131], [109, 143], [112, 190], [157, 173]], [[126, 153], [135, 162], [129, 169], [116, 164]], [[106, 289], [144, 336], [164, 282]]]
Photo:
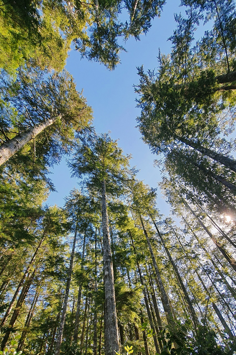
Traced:
[[[111, 137], [119, 139], [119, 146], [124, 153], [131, 153], [131, 165], [140, 169], [137, 178], [145, 184], [157, 187], [161, 181], [159, 168], [153, 166], [156, 155], [151, 154], [149, 147], [144, 144], [138, 129], [136, 117], [140, 110], [136, 108], [134, 84], [138, 84], [137, 66], [144, 69], [157, 67], [159, 48], [162, 53], [169, 53], [171, 43], [167, 41], [175, 29], [174, 13], [182, 12], [185, 7], [179, 7], [180, 0], [167, 0], [160, 18], [152, 21], [148, 34], [141, 35], [140, 41], [130, 38], [124, 47], [128, 53], [121, 54], [121, 64], [112, 72], [103, 65], [80, 59], [80, 54], [70, 51], [67, 60], [67, 70], [73, 75], [77, 89], [84, 89], [84, 96], [94, 111], [94, 126], [97, 133], [111, 131]], [[201, 26], [195, 38], [199, 38], [208, 28]], [[70, 178], [70, 171], [65, 160], [51, 169], [50, 175], [58, 192], [51, 193], [48, 204], [63, 206], [64, 197], [73, 187], [78, 187], [76, 179]], [[168, 215], [169, 207], [159, 193], [158, 205], [161, 213]]]

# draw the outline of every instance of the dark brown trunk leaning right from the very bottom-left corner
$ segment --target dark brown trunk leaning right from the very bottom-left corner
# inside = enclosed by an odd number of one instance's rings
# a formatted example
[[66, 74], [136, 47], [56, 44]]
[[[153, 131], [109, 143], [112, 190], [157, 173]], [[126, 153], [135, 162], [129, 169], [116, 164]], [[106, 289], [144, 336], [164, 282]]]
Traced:
[[27, 293], [29, 291], [29, 288], [30, 288], [30, 285], [31, 283], [33, 282], [33, 279], [34, 279], [34, 276], [35, 276], [35, 273], [36, 273], [36, 270], [38, 269], [38, 266], [39, 264], [34, 268], [34, 271], [33, 273], [30, 275], [30, 277], [25, 281], [23, 287], [22, 287], [22, 290], [21, 290], [21, 293], [18, 297], [18, 300], [17, 300], [17, 303], [16, 303], [16, 308], [15, 310], [13, 311], [12, 313], [12, 316], [11, 316], [11, 320], [8, 324], [8, 329], [2, 339], [2, 343], [1, 343], [1, 351], [3, 351], [5, 349], [5, 346], [8, 342], [8, 339], [11, 335], [11, 332], [13, 331], [13, 327], [15, 326], [15, 323], [17, 321], [17, 317], [21, 311], [21, 308], [24, 304], [24, 300], [25, 300], [25, 297], [27, 296]]

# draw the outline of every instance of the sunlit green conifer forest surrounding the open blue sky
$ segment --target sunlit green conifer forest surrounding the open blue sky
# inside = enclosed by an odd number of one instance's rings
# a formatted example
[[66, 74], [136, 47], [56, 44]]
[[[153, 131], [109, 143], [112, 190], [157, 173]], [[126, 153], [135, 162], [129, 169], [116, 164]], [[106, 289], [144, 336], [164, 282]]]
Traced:
[[[2, 355], [236, 351], [234, 1], [182, 0], [171, 53], [138, 68], [137, 120], [171, 217], [63, 69], [71, 43], [114, 69], [120, 38], [139, 39], [164, 4], [0, 3]], [[48, 206], [65, 155], [80, 188]]]

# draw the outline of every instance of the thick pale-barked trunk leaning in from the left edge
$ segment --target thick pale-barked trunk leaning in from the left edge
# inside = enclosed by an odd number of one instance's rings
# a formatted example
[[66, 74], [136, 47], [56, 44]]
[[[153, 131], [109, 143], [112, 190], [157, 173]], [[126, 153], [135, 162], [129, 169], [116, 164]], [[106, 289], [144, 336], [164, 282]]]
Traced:
[[45, 120], [34, 127], [30, 127], [27, 131], [18, 134], [16, 137], [6, 141], [0, 146], [0, 165], [5, 163], [12, 155], [16, 154], [25, 144], [27, 144], [31, 139], [45, 130], [47, 127], [51, 126], [58, 117], [53, 117], [51, 119]]

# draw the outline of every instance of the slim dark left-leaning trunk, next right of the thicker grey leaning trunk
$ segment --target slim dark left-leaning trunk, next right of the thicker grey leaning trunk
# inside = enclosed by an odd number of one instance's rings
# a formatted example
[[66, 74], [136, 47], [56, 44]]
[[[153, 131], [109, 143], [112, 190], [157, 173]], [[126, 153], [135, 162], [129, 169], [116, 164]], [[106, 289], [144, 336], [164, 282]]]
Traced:
[[152, 218], [152, 223], [154, 224], [154, 226], [155, 226], [155, 228], [156, 228], [156, 230], [157, 230], [157, 233], [158, 233], [158, 235], [159, 235], [159, 238], [161, 239], [161, 243], [162, 243], [162, 245], [163, 245], [163, 247], [164, 247], [164, 249], [165, 249], [165, 251], [166, 251], [166, 253], [167, 253], [167, 256], [168, 256], [168, 258], [169, 258], [169, 261], [171, 262], [171, 265], [172, 265], [172, 267], [173, 267], [173, 269], [174, 269], [174, 272], [175, 272], [175, 274], [176, 274], [176, 276], [177, 276], [177, 279], [178, 279], [178, 281], [179, 281], [180, 287], [182, 288], [182, 291], [183, 291], [183, 293], [184, 293], [184, 297], [185, 297], [185, 299], [186, 299], [186, 301], [187, 301], [187, 303], [188, 303], [188, 308], [189, 308], [189, 311], [190, 311], [190, 315], [191, 315], [192, 321], [194, 322], [194, 326], [195, 326], [195, 329], [196, 329], [196, 328], [197, 328], [197, 324], [198, 324], [197, 315], [196, 315], [196, 312], [195, 312], [195, 310], [194, 310], [194, 307], [192, 306], [192, 302], [191, 302], [191, 300], [190, 300], [190, 298], [189, 298], [189, 295], [188, 295], [188, 292], [187, 292], [187, 290], [186, 290], [186, 288], [185, 288], [185, 285], [184, 285], [184, 283], [183, 283], [182, 277], [181, 277], [180, 274], [179, 274], [179, 271], [178, 271], [178, 269], [177, 269], [177, 267], [176, 267], [176, 265], [175, 265], [175, 263], [174, 263], [174, 261], [173, 261], [173, 259], [172, 259], [172, 256], [171, 256], [171, 254], [170, 254], [168, 248], [166, 247], [165, 241], [164, 241], [164, 239], [162, 238], [162, 235], [161, 235], [159, 229], [157, 228], [156, 222], [155, 222], [155, 220], [154, 220], [153, 218]]

